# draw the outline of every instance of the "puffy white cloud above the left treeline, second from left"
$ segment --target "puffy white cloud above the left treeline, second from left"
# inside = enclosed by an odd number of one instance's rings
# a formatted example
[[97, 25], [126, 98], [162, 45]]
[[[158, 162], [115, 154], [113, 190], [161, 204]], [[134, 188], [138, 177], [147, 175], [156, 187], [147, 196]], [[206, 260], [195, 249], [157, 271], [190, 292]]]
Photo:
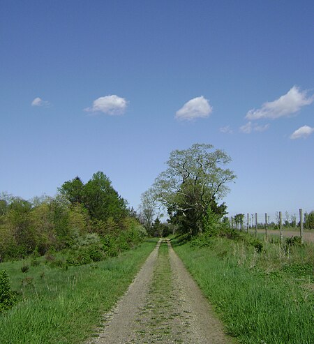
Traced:
[[93, 102], [92, 107], [84, 109], [87, 112], [104, 112], [110, 115], [124, 114], [128, 102], [126, 99], [113, 94], [112, 96], [104, 96], [97, 98]]

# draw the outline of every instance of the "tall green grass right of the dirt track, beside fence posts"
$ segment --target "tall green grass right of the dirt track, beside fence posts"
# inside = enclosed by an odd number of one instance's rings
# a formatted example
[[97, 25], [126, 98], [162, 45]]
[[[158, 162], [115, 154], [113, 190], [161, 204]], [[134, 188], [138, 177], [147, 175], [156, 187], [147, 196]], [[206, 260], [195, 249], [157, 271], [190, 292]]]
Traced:
[[174, 246], [240, 343], [314, 343], [313, 245], [262, 253], [242, 241]]

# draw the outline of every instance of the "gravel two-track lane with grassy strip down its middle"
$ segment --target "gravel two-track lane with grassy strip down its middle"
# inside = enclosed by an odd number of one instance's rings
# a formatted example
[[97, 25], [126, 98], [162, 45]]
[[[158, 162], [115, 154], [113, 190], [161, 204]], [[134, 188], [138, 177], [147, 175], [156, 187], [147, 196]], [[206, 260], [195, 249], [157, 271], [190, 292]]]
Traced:
[[89, 344], [232, 343], [170, 241], [159, 241]]

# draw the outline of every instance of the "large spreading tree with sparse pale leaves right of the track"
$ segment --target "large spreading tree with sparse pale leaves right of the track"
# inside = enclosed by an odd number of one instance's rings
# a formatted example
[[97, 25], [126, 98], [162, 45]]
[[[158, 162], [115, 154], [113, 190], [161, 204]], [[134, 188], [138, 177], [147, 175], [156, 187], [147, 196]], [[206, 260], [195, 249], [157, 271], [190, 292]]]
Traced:
[[227, 183], [236, 177], [224, 169], [230, 156], [211, 144], [193, 144], [185, 150], [175, 150], [150, 190], [151, 197], [165, 207], [172, 223], [181, 232], [192, 235], [202, 231], [202, 218], [207, 209], [225, 214], [225, 204], [217, 201], [227, 193]]

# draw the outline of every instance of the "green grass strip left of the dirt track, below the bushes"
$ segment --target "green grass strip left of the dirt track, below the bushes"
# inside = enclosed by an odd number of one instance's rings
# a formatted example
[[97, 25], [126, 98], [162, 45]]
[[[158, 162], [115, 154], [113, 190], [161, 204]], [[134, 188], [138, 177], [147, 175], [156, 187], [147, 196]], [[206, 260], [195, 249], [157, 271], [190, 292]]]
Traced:
[[[0, 264], [22, 301], [0, 314], [1, 344], [82, 343], [92, 336], [101, 315], [126, 291], [156, 240], [103, 262], [51, 268], [41, 262]], [[29, 271], [22, 273], [23, 264]]]

